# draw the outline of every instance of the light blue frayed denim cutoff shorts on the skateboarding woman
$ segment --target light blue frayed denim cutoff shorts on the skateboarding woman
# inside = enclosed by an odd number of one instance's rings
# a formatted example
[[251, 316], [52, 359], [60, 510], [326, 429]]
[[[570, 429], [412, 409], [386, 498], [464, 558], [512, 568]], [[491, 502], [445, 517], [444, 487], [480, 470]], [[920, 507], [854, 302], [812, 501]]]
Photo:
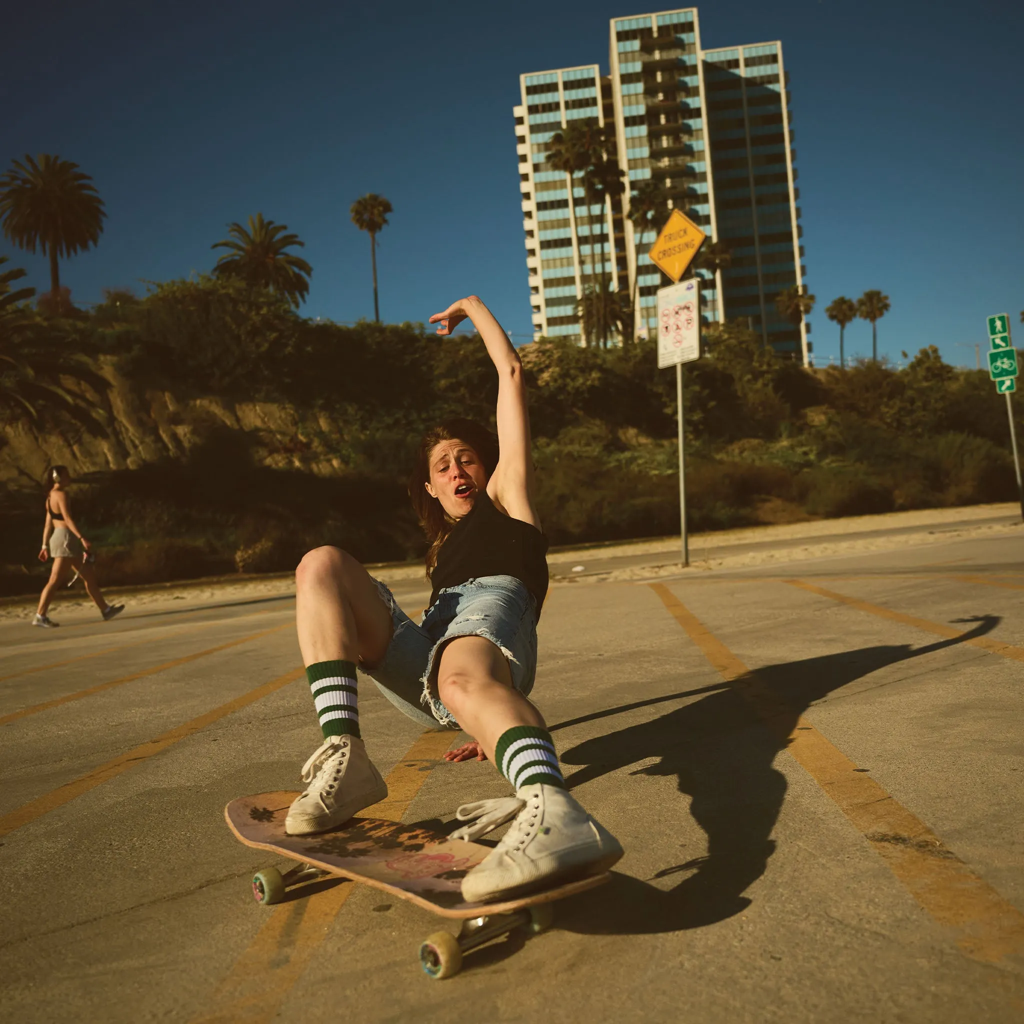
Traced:
[[[414, 722], [458, 729], [437, 695], [441, 648], [456, 637], [484, 637], [508, 658], [512, 685], [523, 696], [537, 675], [537, 610], [532, 595], [515, 577], [479, 577], [438, 592], [437, 600], [414, 623], [391, 591], [374, 580], [391, 609], [391, 642], [374, 666], [359, 668], [381, 693]], [[428, 714], [427, 710], [430, 714]]]

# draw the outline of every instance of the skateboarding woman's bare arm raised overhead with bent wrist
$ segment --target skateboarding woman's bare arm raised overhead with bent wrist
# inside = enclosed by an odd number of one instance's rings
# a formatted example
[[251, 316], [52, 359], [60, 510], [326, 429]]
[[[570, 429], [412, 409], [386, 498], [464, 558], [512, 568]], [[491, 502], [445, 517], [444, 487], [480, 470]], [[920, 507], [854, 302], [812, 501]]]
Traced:
[[498, 468], [487, 482], [487, 494], [502, 511], [540, 528], [541, 520], [534, 507], [534, 460], [522, 362], [494, 313], [475, 295], [453, 302], [443, 312], [434, 313], [430, 323], [439, 325], [437, 333], [443, 337], [452, 334], [467, 317], [483, 339], [498, 371], [500, 456]]

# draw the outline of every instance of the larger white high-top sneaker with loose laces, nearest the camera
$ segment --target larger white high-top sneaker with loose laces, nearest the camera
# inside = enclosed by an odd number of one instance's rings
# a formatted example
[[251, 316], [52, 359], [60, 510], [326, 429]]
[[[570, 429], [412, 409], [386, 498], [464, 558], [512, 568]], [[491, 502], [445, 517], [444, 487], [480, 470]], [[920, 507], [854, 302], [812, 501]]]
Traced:
[[[602, 828], [564, 790], [534, 782], [521, 786], [516, 798], [522, 810], [486, 858], [462, 880], [463, 898], [470, 903], [490, 903], [537, 889], [551, 889], [573, 879], [606, 871], [623, 855], [618, 841]], [[507, 798], [506, 798], [507, 802]], [[460, 808], [460, 818], [483, 817], [499, 801], [481, 800]], [[493, 816], [508, 820], [504, 808]], [[497, 827], [500, 821], [490, 824]], [[465, 838], [480, 831], [460, 829]]]

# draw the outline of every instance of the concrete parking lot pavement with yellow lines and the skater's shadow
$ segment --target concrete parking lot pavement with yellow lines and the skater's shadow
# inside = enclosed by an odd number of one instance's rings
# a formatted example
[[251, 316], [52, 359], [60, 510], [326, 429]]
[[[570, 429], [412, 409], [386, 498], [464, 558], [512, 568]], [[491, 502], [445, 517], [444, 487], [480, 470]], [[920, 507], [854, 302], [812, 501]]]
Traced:
[[[444, 982], [416, 963], [443, 923], [406, 902], [251, 899], [268, 858], [223, 805], [299, 788], [318, 741], [290, 597], [0, 624], [5, 1012], [1018, 1021], [1022, 540], [554, 586], [534, 697], [627, 855]], [[419, 776], [403, 820], [507, 792], [369, 680], [360, 705], [381, 770]]]

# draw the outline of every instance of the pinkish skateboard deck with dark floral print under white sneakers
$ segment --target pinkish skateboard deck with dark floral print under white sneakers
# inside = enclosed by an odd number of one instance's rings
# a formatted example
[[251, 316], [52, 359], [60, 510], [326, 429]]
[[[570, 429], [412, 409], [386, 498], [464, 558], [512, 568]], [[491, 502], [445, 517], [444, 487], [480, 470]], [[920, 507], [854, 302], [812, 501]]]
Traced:
[[242, 797], [224, 808], [224, 817], [246, 846], [361, 882], [442, 918], [466, 920], [511, 913], [585, 892], [611, 878], [604, 872], [496, 903], [468, 903], [462, 897], [463, 877], [486, 857], [492, 847], [383, 818], [353, 817], [330, 831], [289, 836], [285, 817], [298, 796], [282, 792]]

